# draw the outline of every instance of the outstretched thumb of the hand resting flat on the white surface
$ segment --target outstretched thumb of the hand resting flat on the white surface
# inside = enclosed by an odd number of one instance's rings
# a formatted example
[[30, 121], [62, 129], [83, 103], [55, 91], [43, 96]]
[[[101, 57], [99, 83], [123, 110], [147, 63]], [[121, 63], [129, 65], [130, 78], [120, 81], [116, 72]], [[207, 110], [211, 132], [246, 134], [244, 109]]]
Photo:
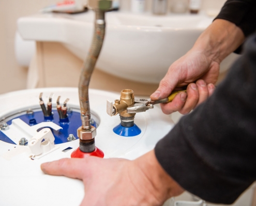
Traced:
[[61, 159], [53, 162], [41, 164], [41, 169], [45, 174], [66, 176], [70, 178], [83, 179], [84, 172], [81, 166], [85, 166], [86, 159]]

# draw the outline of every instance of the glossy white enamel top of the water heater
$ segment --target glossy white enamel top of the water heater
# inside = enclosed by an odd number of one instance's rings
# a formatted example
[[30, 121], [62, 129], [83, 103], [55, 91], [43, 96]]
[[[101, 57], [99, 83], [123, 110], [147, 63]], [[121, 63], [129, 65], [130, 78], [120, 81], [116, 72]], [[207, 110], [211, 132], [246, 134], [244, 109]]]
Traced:
[[[56, 101], [58, 95], [61, 95], [62, 99], [70, 98], [68, 105], [79, 108], [76, 88], [23, 90], [0, 95], [0, 119], [10, 113], [38, 108], [40, 92], [44, 94], [43, 99], [47, 99], [48, 95], [54, 92], [53, 102]], [[96, 146], [104, 152], [104, 158], [134, 159], [152, 150], [157, 141], [171, 130], [174, 123], [155, 107], [147, 112], [136, 114], [135, 124], [141, 128], [141, 134], [129, 138], [119, 136], [112, 131], [120, 123], [119, 116], [111, 117], [106, 112], [106, 100], [114, 100], [118, 97], [119, 94], [115, 93], [89, 91], [92, 113], [100, 119], [95, 140]], [[59, 146], [58, 149], [46, 156], [31, 160], [28, 158], [31, 151], [27, 146], [0, 141], [0, 205], [80, 204], [84, 196], [83, 184], [80, 180], [44, 175], [40, 170], [40, 164], [43, 162], [70, 158], [71, 152], [78, 148], [79, 140], [57, 146]], [[73, 149], [62, 152], [67, 147]]]

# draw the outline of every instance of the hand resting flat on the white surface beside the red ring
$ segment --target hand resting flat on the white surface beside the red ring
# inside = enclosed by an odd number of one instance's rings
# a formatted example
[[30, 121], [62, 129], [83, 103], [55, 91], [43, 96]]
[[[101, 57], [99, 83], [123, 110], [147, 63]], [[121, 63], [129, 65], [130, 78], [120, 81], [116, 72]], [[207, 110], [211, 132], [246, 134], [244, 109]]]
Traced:
[[49, 175], [83, 180], [82, 206], [162, 205], [184, 191], [165, 173], [154, 151], [134, 161], [97, 157], [61, 159], [43, 163], [41, 169]]

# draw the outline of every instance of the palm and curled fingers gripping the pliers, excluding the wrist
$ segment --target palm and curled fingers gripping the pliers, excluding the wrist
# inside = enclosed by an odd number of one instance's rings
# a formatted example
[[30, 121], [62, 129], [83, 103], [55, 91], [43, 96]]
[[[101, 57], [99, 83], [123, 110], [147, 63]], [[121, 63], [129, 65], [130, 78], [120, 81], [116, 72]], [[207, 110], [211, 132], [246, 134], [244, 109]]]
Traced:
[[210, 60], [203, 52], [191, 49], [169, 67], [167, 74], [160, 81], [159, 88], [150, 98], [165, 98], [172, 91], [181, 90], [188, 85], [187, 93], [180, 92], [172, 102], [161, 104], [165, 114], [176, 111], [187, 114], [214, 92], [218, 75], [218, 62]]

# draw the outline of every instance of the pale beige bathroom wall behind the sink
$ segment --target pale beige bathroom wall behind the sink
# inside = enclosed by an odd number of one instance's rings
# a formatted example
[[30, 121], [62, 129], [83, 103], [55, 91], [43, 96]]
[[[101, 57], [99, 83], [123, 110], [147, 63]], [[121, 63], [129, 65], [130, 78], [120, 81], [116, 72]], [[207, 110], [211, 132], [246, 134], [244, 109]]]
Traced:
[[[17, 19], [59, 1], [61, 0], [0, 0], [0, 94], [26, 88], [27, 68], [19, 66], [14, 55]], [[120, 1], [122, 9], [129, 10], [130, 1]], [[150, 10], [151, 2], [146, 0], [147, 11]], [[202, 8], [218, 9], [224, 2], [225, 0], [203, 0]]]

